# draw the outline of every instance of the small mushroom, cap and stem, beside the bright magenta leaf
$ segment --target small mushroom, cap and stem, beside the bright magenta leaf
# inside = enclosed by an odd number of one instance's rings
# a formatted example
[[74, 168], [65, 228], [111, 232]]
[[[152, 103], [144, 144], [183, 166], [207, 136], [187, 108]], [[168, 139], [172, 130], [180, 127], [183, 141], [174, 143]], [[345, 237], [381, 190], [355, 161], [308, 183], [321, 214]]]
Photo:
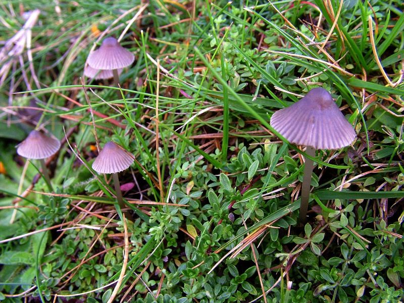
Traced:
[[[92, 163], [92, 169], [97, 173], [112, 174], [114, 179], [115, 192], [118, 204], [123, 209], [125, 204], [122, 199], [122, 191], [119, 184], [118, 173], [127, 169], [134, 161], [134, 157], [122, 146], [110, 141], [104, 145], [97, 158]], [[126, 213], [129, 220], [133, 220], [129, 213]]]

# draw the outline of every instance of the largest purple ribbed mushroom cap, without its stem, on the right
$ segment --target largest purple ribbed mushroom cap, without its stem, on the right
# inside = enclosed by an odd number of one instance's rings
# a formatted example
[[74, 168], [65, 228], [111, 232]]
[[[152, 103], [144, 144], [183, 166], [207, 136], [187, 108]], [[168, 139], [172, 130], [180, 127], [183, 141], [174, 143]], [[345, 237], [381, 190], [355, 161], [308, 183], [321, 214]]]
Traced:
[[316, 149], [338, 149], [349, 145], [357, 136], [330, 93], [321, 87], [275, 112], [271, 126], [289, 142]]

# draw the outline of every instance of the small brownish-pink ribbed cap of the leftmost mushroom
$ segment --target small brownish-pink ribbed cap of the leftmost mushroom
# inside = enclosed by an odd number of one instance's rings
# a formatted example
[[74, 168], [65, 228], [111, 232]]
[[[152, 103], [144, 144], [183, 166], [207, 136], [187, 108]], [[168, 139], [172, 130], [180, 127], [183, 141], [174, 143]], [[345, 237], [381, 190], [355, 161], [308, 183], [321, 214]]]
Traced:
[[17, 154], [27, 159], [45, 159], [51, 157], [60, 148], [60, 141], [48, 137], [37, 130], [17, 145]]

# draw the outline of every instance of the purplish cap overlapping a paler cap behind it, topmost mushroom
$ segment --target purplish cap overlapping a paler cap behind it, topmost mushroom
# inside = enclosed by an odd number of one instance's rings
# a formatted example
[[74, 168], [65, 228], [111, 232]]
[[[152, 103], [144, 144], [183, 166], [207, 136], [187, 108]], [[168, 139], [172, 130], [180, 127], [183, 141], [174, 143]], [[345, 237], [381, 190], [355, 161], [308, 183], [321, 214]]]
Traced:
[[87, 63], [98, 70], [113, 70], [127, 67], [134, 60], [135, 56], [122, 47], [117, 39], [108, 37], [96, 51], [88, 55]]

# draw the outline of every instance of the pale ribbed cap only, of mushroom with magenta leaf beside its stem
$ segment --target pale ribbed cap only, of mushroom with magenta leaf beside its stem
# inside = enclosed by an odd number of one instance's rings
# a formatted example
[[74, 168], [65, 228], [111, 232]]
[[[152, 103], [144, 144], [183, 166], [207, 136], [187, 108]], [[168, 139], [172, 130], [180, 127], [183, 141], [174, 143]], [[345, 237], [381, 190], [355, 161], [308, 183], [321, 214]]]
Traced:
[[113, 174], [127, 169], [133, 161], [132, 154], [110, 141], [99, 152], [98, 157], [92, 163], [92, 169], [97, 173]]

